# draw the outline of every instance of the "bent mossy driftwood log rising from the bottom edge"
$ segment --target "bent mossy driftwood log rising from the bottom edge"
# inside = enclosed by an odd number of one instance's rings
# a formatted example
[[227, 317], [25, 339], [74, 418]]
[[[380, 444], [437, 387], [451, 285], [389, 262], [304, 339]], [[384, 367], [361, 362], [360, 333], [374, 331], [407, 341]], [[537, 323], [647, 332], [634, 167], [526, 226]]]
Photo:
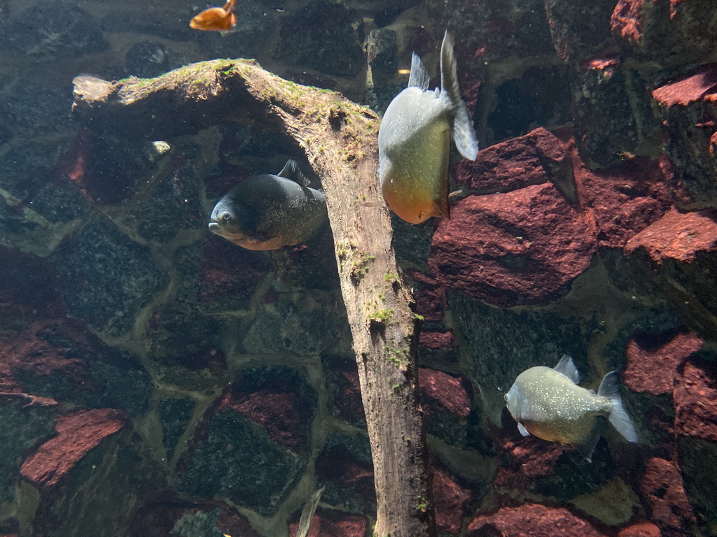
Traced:
[[92, 130], [150, 140], [227, 121], [292, 137], [326, 193], [374, 460], [374, 535], [435, 535], [417, 382], [419, 320], [391, 247], [376, 171], [379, 118], [336, 92], [288, 82], [247, 60], [201, 62], [155, 79], [75, 79]]

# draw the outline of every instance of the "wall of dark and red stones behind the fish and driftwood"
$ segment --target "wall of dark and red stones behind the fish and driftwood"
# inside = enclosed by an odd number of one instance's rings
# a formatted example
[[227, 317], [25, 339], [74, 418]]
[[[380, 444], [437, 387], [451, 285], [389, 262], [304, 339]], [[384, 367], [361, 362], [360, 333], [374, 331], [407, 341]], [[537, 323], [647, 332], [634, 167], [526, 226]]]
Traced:
[[[0, 536], [286, 536], [320, 486], [310, 536], [371, 535], [331, 233], [206, 228], [303, 152], [231, 107], [113, 130], [72, 80], [246, 57], [383, 112], [445, 29], [480, 152], [450, 220], [394, 218], [440, 535], [717, 536], [717, 4], [239, 0], [225, 35], [206, 7], [0, 0]], [[503, 395], [563, 354], [619, 372], [637, 444], [520, 435]]]

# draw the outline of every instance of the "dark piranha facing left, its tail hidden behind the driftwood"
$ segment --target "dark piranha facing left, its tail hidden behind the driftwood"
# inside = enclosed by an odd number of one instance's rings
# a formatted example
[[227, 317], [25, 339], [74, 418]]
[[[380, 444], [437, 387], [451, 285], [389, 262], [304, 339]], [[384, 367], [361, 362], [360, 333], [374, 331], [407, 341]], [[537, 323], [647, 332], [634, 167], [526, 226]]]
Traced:
[[313, 237], [328, 221], [326, 197], [294, 160], [277, 175], [247, 178], [214, 206], [209, 231], [248, 250], [276, 250]]

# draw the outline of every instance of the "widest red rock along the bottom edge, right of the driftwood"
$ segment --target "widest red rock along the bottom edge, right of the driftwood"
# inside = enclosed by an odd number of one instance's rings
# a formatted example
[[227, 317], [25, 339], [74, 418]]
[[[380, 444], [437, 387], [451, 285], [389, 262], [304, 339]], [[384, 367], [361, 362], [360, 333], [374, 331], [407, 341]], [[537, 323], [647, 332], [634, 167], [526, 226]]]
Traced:
[[549, 507], [537, 503], [504, 507], [493, 515], [477, 516], [468, 525], [466, 537], [488, 534], [495, 537], [604, 537], [607, 535], [564, 507]]

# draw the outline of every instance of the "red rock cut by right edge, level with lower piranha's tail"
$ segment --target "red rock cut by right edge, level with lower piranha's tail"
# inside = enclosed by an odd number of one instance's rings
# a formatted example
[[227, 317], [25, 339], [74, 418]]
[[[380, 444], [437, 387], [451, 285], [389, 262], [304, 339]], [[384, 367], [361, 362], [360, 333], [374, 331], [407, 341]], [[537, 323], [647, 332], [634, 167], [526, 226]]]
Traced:
[[717, 442], [717, 366], [686, 362], [673, 393], [675, 432]]

